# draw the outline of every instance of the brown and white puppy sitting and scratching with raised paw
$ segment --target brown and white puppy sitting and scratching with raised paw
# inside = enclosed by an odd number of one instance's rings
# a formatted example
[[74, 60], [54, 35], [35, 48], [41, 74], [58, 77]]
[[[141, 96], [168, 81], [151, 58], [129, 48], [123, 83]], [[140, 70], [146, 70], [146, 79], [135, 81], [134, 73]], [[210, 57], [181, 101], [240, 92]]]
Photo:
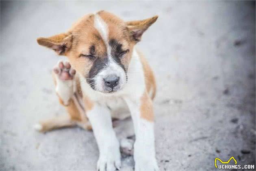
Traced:
[[100, 152], [97, 170], [114, 171], [121, 168], [119, 146], [130, 141], [117, 139], [111, 119], [131, 116], [135, 171], [158, 171], [152, 105], [156, 82], [135, 48], [157, 18], [125, 22], [99, 11], [85, 15], [65, 33], [37, 38], [39, 45], [68, 59], [59, 61], [52, 75], [59, 102], [69, 116], [39, 122], [35, 128], [41, 132], [75, 125], [93, 129]]

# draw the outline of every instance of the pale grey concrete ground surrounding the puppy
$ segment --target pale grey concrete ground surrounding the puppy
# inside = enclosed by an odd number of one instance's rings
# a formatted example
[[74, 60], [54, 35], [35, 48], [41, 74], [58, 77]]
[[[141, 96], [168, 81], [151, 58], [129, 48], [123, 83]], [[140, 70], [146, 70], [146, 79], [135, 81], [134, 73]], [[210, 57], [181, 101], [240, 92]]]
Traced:
[[[217, 170], [215, 158], [231, 156], [255, 165], [255, 2], [1, 1], [0, 170], [95, 170], [92, 132], [42, 134], [32, 126], [65, 114], [50, 74], [64, 57], [36, 38], [65, 32], [102, 9], [125, 20], [159, 15], [138, 46], [157, 79], [160, 170]], [[132, 164], [123, 158], [123, 170]]]

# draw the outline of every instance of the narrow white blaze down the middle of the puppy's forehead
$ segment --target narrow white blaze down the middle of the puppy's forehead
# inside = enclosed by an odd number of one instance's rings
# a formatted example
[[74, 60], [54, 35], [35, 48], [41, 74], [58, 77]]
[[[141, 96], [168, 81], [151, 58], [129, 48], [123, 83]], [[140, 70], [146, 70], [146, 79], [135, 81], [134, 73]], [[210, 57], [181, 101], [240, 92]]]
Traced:
[[108, 45], [108, 25], [97, 14], [95, 15], [95, 19], [94, 19], [94, 27], [100, 33], [100, 36], [102, 37], [102, 39], [104, 40], [104, 43], [106, 44], [107, 54], [110, 55], [111, 54], [110, 47]]

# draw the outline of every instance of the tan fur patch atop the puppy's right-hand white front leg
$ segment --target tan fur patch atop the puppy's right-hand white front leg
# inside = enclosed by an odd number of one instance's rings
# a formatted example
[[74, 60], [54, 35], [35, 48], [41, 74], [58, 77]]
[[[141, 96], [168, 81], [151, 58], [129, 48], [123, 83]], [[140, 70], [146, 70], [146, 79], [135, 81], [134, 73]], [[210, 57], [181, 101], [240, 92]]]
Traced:
[[147, 92], [143, 93], [141, 97], [140, 112], [141, 112], [141, 118], [148, 120], [150, 122], [154, 121], [153, 104]]

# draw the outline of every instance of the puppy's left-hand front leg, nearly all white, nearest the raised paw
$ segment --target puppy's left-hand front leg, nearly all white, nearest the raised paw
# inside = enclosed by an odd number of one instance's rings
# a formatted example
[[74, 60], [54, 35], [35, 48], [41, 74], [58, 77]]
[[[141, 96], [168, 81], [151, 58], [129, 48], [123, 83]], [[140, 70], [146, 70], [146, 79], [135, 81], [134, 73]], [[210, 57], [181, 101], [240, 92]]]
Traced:
[[119, 141], [112, 127], [111, 114], [105, 106], [94, 103], [87, 111], [96, 138], [100, 157], [97, 171], [115, 171], [121, 167]]

